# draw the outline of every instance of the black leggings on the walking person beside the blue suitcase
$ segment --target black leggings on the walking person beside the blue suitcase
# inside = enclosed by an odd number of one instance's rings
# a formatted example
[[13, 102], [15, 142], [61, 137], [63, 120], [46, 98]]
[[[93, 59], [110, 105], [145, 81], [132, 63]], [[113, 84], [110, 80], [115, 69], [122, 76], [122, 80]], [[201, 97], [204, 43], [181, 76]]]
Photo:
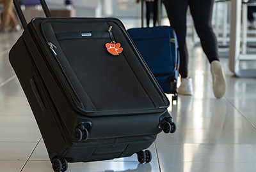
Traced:
[[219, 61], [218, 43], [212, 31], [214, 0], [163, 0], [170, 24], [177, 34], [180, 50], [180, 76], [188, 77], [188, 48], [186, 46], [186, 15], [188, 6], [196, 32], [209, 62]]

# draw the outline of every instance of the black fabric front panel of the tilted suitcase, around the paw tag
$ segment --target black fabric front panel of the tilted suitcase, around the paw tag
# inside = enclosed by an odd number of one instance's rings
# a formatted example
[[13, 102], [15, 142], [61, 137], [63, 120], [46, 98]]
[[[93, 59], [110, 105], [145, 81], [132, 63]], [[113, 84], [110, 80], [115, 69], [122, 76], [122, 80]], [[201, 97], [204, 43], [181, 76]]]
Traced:
[[[113, 41], [108, 32], [110, 25], [116, 43], [124, 48], [120, 55], [109, 54], [106, 48], [106, 43]], [[147, 67], [141, 68], [143, 62], [115, 22], [58, 19], [42, 22], [40, 29], [46, 43], [52, 44], [55, 61], [86, 111], [153, 110], [168, 106], [168, 100], [152, 83], [154, 79], [145, 71]], [[94, 106], [91, 109], [86, 104], [88, 100]]]

